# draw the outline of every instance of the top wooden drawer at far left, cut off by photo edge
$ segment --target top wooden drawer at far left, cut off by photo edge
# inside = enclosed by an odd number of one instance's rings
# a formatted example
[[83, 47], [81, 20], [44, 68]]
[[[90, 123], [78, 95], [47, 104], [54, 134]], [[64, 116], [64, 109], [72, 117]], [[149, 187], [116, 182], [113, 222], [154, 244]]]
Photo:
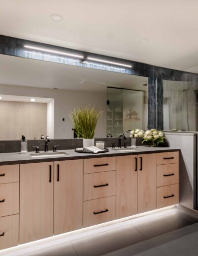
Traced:
[[0, 165], [0, 184], [19, 182], [19, 164]]

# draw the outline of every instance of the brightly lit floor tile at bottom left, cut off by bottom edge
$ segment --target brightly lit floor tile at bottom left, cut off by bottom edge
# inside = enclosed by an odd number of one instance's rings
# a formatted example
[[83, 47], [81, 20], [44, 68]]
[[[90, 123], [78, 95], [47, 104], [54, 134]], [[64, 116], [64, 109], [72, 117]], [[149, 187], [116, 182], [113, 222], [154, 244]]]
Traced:
[[[24, 255], [25, 256], [25, 255]], [[71, 242], [58, 246], [49, 247], [45, 250], [26, 254], [26, 256], [78, 256]]]

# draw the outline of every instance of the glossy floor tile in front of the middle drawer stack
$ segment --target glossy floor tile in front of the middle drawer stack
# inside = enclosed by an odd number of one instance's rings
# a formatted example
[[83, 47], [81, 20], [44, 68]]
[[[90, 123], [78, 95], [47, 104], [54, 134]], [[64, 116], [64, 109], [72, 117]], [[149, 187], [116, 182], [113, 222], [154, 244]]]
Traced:
[[100, 256], [141, 243], [145, 239], [132, 226], [125, 226], [92, 237], [72, 241], [72, 244], [79, 256]]

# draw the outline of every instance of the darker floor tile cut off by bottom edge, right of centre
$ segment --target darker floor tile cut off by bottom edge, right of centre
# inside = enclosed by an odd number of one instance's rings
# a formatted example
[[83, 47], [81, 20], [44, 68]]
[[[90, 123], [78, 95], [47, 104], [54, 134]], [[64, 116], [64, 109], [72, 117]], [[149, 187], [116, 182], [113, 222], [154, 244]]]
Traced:
[[148, 240], [105, 254], [105, 256], [167, 256]]

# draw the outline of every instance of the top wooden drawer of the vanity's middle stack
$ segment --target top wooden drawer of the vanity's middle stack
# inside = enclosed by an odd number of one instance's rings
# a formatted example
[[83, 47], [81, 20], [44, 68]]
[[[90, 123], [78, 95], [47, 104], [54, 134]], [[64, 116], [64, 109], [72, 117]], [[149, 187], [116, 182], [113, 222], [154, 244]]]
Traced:
[[84, 159], [84, 174], [116, 170], [116, 157]]

